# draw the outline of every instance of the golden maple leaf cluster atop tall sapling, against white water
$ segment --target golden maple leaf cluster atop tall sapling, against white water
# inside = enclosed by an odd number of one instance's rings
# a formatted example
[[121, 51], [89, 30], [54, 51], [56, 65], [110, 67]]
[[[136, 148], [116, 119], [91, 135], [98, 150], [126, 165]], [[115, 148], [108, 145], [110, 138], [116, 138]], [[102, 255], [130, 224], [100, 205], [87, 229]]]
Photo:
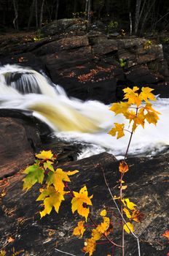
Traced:
[[117, 139], [125, 136], [126, 130], [135, 132], [139, 125], [144, 128], [146, 122], [156, 125], [160, 114], [152, 108], [151, 101], [156, 100], [154, 94], [152, 94], [153, 89], [142, 87], [141, 92], [138, 93], [139, 88], [134, 86], [133, 89], [126, 88], [123, 91], [125, 102], [114, 103], [110, 108], [115, 115], [122, 114], [129, 121], [127, 129], [125, 124], [114, 123], [114, 127], [109, 131], [109, 134], [117, 136]]

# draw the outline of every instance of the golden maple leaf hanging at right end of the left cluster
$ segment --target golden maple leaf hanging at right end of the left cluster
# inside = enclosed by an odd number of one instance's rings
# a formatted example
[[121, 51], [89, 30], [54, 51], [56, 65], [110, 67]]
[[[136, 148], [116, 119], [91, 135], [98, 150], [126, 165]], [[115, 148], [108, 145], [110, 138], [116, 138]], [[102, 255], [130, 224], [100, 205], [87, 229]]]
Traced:
[[93, 198], [93, 195], [88, 197], [87, 187], [84, 186], [82, 189], [80, 189], [79, 193], [74, 191], [74, 198], [71, 200], [71, 210], [74, 214], [74, 211], [77, 211], [79, 215], [82, 217], [85, 217], [87, 221], [87, 217], [89, 215], [89, 208], [84, 207], [85, 206], [92, 206], [91, 198]]

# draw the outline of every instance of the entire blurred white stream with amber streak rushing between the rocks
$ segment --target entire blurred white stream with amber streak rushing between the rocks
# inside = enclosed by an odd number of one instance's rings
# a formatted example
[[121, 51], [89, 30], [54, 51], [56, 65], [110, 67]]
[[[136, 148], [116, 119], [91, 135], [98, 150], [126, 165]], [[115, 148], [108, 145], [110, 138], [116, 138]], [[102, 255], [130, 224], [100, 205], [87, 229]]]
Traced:
[[[107, 135], [114, 122], [125, 121], [122, 116], [114, 116], [101, 102], [69, 99], [63, 89], [34, 70], [0, 67], [0, 108], [33, 110], [34, 116], [47, 122], [58, 137], [89, 143], [79, 158], [103, 151], [125, 154], [128, 133], [119, 140]], [[160, 121], [156, 127], [147, 124], [145, 129], [136, 129], [130, 154], [152, 155], [169, 146], [169, 99], [157, 99], [154, 108], [161, 113]]]

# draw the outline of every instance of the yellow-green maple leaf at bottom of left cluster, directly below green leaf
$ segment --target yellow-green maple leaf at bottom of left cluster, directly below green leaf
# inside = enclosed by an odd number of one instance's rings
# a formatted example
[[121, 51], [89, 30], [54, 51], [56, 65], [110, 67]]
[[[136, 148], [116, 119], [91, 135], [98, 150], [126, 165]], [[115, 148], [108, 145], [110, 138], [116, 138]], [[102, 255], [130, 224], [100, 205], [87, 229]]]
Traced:
[[44, 210], [40, 211], [41, 218], [44, 217], [46, 214], [50, 214], [52, 211], [52, 207], [55, 208], [55, 211], [58, 213], [60, 208], [60, 203], [65, 200], [64, 199], [64, 192], [60, 193], [55, 190], [54, 187], [50, 186], [47, 189], [44, 189], [36, 199], [36, 201], [44, 201]]

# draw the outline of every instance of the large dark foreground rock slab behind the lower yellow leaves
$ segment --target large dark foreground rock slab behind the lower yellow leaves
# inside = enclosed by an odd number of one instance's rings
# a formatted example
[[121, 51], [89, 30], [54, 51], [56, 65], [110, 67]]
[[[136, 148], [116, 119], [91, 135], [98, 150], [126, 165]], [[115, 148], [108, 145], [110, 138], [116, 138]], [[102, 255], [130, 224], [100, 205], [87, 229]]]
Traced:
[[[128, 185], [124, 192], [125, 197], [135, 202], [145, 214], [143, 222], [135, 224], [135, 233], [139, 236], [141, 244], [141, 255], [166, 255], [168, 249], [162, 233], [168, 230], [168, 154], [154, 159], [127, 159], [127, 163], [130, 171], [125, 174]], [[71, 177], [70, 187], [74, 191], [79, 191], [86, 184], [89, 195], [93, 195], [91, 214], [95, 222], [103, 206], [114, 207], [104, 183], [103, 170], [112, 188], [119, 178], [118, 165], [113, 156], [103, 153], [60, 166], [63, 170], [79, 170], [78, 174]], [[63, 202], [59, 214], [52, 211], [50, 216], [40, 219], [39, 202], [36, 202], [39, 186], [34, 186], [25, 194], [22, 191], [22, 179], [22, 174], [13, 176], [8, 179], [8, 183], [4, 181], [4, 185], [1, 186], [5, 195], [1, 197], [0, 243], [7, 251], [7, 255], [11, 255], [13, 247], [15, 252], [23, 250], [20, 255], [63, 255], [56, 249], [74, 255], [84, 255], [81, 251], [84, 246], [83, 239], [71, 236], [79, 217], [71, 214], [68, 197]], [[112, 190], [114, 195], [118, 195], [117, 190]], [[7, 243], [9, 237], [14, 238], [15, 241]], [[118, 244], [121, 241], [115, 227], [114, 241]], [[93, 256], [109, 253], [111, 253], [109, 244], [98, 244]], [[125, 254], [138, 255], [136, 240], [131, 235], [125, 236]], [[117, 255], [119, 255], [119, 249], [114, 251], [114, 256]]]

